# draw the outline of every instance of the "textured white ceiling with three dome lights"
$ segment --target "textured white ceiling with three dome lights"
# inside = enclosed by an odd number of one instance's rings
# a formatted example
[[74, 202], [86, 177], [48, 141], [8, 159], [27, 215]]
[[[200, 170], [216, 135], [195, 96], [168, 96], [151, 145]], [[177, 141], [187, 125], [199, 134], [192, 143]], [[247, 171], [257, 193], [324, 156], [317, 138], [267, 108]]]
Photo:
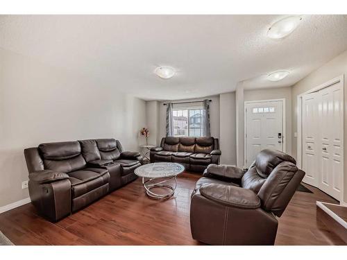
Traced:
[[[266, 37], [284, 15], [0, 16], [0, 47], [97, 78], [146, 100], [286, 87], [347, 49], [347, 15], [303, 15], [282, 40]], [[157, 66], [178, 70], [162, 80]], [[289, 69], [273, 83], [266, 74]]]

